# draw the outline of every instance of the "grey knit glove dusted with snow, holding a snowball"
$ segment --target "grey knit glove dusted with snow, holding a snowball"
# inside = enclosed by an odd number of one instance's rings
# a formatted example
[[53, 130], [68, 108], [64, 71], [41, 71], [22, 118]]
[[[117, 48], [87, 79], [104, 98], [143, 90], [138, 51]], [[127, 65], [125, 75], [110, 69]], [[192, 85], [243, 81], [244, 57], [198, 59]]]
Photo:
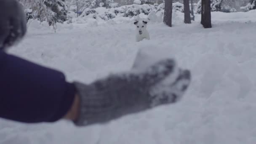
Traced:
[[85, 85], [75, 82], [80, 97], [76, 125], [106, 123], [123, 115], [178, 101], [190, 82], [190, 72], [166, 59], [144, 72], [109, 75]]

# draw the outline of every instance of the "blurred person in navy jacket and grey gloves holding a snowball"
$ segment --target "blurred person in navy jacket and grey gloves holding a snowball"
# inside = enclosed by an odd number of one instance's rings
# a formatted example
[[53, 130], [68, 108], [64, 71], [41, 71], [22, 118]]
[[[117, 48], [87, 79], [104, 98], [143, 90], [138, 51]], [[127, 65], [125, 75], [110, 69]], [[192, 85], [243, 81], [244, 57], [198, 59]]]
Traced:
[[[173, 59], [143, 71], [109, 74], [93, 83], [69, 83], [62, 72], [8, 54], [26, 34], [16, 0], [0, 0], [0, 117], [22, 123], [71, 120], [77, 126], [103, 124], [124, 115], [173, 104], [187, 90], [191, 74]], [[175, 69], [179, 69], [176, 71]], [[173, 77], [168, 80], [168, 77]]]

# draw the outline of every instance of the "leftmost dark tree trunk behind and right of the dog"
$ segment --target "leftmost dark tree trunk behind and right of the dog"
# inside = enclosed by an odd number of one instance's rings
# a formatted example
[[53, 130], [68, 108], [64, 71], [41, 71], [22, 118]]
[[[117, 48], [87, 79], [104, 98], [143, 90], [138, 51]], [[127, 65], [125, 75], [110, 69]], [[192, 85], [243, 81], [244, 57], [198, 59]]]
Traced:
[[163, 16], [163, 22], [171, 27], [171, 18], [173, 11], [173, 0], [165, 0], [165, 11]]

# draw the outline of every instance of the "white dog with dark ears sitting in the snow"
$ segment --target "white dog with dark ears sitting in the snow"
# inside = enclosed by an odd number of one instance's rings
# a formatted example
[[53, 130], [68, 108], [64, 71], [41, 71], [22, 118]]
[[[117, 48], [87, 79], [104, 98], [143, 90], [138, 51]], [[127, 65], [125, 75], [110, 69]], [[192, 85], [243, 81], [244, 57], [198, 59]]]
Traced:
[[147, 31], [147, 21], [144, 20], [136, 20], [134, 22], [136, 25], [136, 41], [139, 42], [143, 39], [149, 40], [149, 32]]

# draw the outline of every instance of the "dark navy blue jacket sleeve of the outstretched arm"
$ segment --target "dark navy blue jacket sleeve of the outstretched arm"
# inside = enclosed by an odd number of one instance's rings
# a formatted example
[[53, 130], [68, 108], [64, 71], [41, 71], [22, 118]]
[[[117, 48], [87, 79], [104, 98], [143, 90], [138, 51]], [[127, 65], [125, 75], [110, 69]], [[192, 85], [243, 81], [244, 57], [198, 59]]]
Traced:
[[75, 86], [63, 73], [0, 51], [0, 117], [54, 122], [72, 105]]

